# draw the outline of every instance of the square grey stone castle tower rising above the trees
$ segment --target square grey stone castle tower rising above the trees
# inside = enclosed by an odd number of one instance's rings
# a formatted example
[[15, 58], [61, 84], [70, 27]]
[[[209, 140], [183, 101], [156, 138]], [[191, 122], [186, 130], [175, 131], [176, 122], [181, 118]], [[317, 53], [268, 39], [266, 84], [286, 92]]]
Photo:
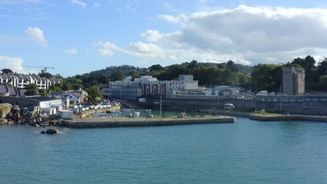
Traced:
[[305, 70], [283, 67], [283, 94], [303, 95], [305, 93]]

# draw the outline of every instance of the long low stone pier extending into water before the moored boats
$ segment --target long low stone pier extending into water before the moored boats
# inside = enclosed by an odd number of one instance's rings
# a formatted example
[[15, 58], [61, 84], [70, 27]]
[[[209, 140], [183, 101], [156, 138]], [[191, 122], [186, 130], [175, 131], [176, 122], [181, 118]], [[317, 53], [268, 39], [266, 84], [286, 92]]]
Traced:
[[163, 126], [163, 125], [189, 125], [203, 123], [236, 123], [235, 117], [219, 118], [181, 118], [181, 119], [159, 119], [145, 121], [63, 121], [68, 128], [103, 128], [103, 127], [138, 127], [138, 126]]

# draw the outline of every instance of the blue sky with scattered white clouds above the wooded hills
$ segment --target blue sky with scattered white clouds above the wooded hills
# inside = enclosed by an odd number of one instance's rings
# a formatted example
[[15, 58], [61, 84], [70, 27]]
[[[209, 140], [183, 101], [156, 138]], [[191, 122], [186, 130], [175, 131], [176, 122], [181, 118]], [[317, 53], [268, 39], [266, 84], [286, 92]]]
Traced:
[[307, 55], [327, 57], [326, 0], [0, 0], [0, 68], [14, 72]]

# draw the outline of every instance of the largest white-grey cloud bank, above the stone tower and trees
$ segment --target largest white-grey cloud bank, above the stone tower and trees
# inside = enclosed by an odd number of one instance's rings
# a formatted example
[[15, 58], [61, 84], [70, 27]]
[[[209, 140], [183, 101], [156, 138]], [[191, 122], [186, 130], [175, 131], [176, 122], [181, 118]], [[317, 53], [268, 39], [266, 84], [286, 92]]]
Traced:
[[140, 36], [179, 59], [280, 63], [327, 53], [327, 9], [238, 6], [192, 13], [181, 20], [159, 17], [183, 22], [170, 33], [149, 29]]

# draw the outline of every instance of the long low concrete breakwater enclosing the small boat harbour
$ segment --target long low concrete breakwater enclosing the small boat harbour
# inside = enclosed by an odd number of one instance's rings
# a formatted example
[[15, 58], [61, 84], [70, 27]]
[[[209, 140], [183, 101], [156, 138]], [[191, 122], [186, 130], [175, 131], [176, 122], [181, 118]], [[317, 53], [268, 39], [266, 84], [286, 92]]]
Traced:
[[204, 118], [83, 118], [63, 121], [68, 128], [102, 128], [102, 127], [136, 127], [136, 126], [163, 126], [163, 125], [187, 125], [203, 123], [236, 123], [236, 118], [231, 116], [217, 116]]

